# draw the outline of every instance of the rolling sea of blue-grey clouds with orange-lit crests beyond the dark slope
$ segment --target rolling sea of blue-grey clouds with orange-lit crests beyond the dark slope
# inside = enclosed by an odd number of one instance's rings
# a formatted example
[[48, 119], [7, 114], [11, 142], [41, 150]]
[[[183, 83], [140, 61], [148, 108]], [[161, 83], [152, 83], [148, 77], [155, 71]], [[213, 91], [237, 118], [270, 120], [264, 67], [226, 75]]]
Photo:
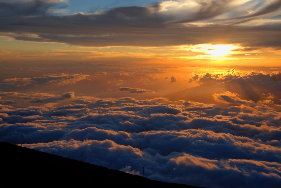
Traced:
[[[25, 147], [78, 160], [84, 152], [85, 162], [133, 174], [145, 167], [145, 176], [155, 180], [210, 188], [277, 188], [279, 75], [234, 69], [194, 75], [191, 81], [203, 85], [198, 91], [206, 83], [234, 82], [238, 88], [246, 80], [264, 92], [257, 101], [239, 90], [220, 90], [210, 95], [216, 104], [1, 92], [0, 141], [20, 144], [23, 134]], [[119, 91], [146, 92], [128, 87]], [[12, 106], [21, 100], [29, 103]]]

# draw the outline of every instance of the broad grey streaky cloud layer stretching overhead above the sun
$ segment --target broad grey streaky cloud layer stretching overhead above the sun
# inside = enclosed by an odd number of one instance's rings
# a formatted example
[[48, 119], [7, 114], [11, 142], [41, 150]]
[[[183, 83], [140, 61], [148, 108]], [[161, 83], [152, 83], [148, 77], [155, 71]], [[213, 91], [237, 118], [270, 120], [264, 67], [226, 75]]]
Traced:
[[280, 46], [280, 0], [162, 1], [94, 13], [44, 15], [55, 2], [1, 1], [5, 9], [1, 35], [78, 46]]

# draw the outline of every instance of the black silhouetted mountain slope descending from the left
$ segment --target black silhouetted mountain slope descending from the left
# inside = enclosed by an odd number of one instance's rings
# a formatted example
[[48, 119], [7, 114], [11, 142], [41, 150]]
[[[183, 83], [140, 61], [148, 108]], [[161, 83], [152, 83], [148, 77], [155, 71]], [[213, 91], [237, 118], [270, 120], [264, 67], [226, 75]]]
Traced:
[[[199, 188], [147, 179], [106, 167], [83, 163], [58, 155], [52, 155], [25, 147], [0, 142], [1, 177], [0, 187], [44, 185], [91, 187], [173, 187]], [[4, 176], [4, 177], [3, 177]], [[144, 187], [144, 188], [146, 188]]]

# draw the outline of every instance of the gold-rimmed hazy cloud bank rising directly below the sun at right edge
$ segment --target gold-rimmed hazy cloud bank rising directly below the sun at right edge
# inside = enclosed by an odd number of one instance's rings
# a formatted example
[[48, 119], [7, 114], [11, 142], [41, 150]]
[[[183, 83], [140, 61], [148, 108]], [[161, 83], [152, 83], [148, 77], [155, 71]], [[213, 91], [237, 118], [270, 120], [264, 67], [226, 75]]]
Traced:
[[[196, 100], [208, 104], [218, 101], [232, 104], [260, 101], [261, 103], [280, 105], [281, 101], [277, 97], [281, 95], [279, 77], [280, 72], [278, 71], [269, 73], [261, 71], [243, 72], [235, 69], [193, 74], [189, 82], [196, 82], [199, 86], [165, 97], [171, 100]], [[270, 98], [268, 98], [269, 95]]]

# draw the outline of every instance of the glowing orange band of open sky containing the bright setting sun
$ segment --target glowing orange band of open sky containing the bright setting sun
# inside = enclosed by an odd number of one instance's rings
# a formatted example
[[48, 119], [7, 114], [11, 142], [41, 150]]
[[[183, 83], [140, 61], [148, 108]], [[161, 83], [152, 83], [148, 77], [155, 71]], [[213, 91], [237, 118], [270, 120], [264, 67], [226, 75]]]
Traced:
[[[89, 62], [154, 65], [270, 65], [279, 66], [281, 51], [240, 44], [197, 44], [163, 47], [79, 47], [58, 43], [17, 41], [0, 37], [3, 62]], [[266, 62], [266, 63], [265, 63]]]

